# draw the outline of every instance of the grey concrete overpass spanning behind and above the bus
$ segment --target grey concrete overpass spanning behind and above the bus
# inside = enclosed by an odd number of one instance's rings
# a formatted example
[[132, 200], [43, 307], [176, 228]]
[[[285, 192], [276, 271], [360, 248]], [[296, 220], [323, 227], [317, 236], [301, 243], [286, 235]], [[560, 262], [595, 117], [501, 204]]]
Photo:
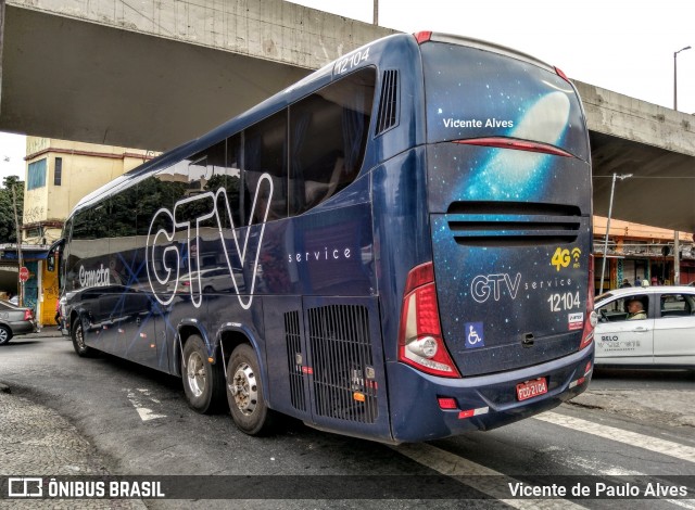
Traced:
[[[163, 151], [392, 30], [282, 0], [0, 0], [0, 130]], [[594, 212], [695, 232], [695, 117], [577, 82]]]

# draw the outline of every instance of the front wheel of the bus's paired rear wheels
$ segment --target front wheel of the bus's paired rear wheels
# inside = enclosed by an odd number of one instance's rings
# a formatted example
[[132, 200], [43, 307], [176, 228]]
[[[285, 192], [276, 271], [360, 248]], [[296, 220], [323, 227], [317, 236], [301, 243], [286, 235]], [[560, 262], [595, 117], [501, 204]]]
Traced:
[[216, 412], [224, 401], [225, 373], [220, 364], [211, 364], [203, 339], [193, 334], [184, 345], [181, 377], [191, 409], [203, 415]]

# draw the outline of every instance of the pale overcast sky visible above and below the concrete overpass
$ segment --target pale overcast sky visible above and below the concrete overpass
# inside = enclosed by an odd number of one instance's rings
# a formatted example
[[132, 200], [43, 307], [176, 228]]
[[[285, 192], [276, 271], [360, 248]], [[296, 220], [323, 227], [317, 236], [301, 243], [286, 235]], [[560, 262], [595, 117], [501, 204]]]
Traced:
[[[371, 23], [374, 0], [294, 0]], [[379, 24], [484, 39], [536, 56], [580, 81], [695, 114], [695, 3], [691, 0], [379, 0]], [[24, 137], [0, 133], [0, 184], [24, 178]]]

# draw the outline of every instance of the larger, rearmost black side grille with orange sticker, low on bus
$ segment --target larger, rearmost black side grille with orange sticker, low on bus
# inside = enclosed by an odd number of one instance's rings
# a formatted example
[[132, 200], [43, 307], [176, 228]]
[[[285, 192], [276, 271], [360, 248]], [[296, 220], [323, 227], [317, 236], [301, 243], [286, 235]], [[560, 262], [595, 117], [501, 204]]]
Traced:
[[377, 381], [367, 308], [330, 305], [307, 315], [316, 415], [374, 423]]

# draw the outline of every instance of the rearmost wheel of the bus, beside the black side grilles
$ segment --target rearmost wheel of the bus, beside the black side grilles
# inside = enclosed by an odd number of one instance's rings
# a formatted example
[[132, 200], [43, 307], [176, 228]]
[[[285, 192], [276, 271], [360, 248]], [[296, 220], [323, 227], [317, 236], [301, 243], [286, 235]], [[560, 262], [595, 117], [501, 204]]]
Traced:
[[273, 430], [276, 413], [265, 401], [258, 360], [249, 344], [238, 345], [227, 364], [227, 401], [237, 428], [249, 435]]

